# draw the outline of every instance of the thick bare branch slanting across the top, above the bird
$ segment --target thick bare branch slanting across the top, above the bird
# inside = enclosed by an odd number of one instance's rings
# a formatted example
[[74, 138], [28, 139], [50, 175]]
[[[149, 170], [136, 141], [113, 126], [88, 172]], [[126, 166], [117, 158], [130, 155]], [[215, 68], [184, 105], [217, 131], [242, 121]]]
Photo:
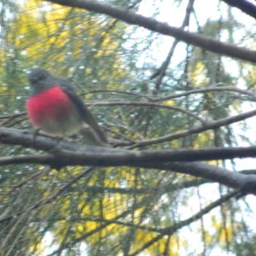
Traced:
[[168, 26], [168, 24], [159, 22], [157, 20], [143, 17], [130, 10], [124, 8], [118, 8], [109, 6], [107, 4], [98, 3], [95, 0], [46, 0], [48, 2], [61, 4], [63, 6], [70, 6], [75, 8], [82, 8], [92, 12], [102, 13], [114, 17], [119, 20], [123, 20], [129, 24], [138, 25], [143, 28], [161, 33], [163, 35], [173, 36], [177, 40], [184, 41], [188, 44], [192, 44], [198, 47], [202, 47], [205, 50], [216, 52], [225, 56], [230, 56], [240, 60], [250, 61], [256, 63], [256, 52], [250, 51], [243, 47], [237, 47], [232, 44], [227, 44], [214, 40], [210, 37], [198, 35], [182, 29]]

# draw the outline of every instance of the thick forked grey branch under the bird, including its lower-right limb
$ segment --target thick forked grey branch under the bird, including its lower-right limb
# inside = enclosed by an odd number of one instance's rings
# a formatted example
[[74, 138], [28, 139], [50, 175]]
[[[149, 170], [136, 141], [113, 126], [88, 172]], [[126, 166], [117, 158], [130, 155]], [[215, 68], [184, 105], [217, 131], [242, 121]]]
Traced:
[[[244, 194], [256, 195], [256, 175], [230, 172], [225, 168], [196, 162], [198, 160], [256, 157], [256, 146], [132, 151], [79, 146], [45, 136], [34, 138], [33, 132], [3, 127], [0, 127], [0, 142], [51, 152], [45, 155], [1, 157], [0, 165], [36, 163], [50, 165], [52, 168], [68, 165], [154, 168], [202, 177], [230, 188], [241, 189]], [[184, 163], [189, 161], [193, 163]]]

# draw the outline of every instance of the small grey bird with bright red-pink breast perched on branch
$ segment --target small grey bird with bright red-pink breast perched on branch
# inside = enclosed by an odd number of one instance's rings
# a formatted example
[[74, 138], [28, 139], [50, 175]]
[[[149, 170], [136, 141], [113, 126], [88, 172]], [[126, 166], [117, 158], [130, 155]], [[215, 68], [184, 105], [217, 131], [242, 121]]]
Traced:
[[81, 132], [88, 145], [108, 145], [99, 125], [72, 84], [39, 67], [31, 70], [29, 83], [32, 92], [26, 109], [37, 129], [59, 137]]

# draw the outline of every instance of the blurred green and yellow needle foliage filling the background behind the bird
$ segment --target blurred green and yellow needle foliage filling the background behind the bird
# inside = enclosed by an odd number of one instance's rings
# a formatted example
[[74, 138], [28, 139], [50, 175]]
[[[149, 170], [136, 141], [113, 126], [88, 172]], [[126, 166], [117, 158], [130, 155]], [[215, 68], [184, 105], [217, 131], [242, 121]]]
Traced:
[[[188, 29], [254, 47], [250, 29], [255, 21], [243, 20], [244, 13], [216, 2], [218, 19], [206, 19], [201, 18], [197, 1], [185, 2], [116, 0], [109, 4], [143, 15], [147, 6], [152, 19], [170, 23], [165, 9], [182, 13], [183, 19], [186, 4], [192, 4]], [[233, 12], [238, 13], [237, 19]], [[159, 150], [254, 143], [246, 120], [157, 141], [253, 106], [250, 95], [233, 90], [254, 90], [251, 63], [189, 44], [176, 47], [178, 42], [139, 26], [42, 1], [18, 6], [6, 0], [0, 22], [3, 127], [32, 129], [24, 105], [29, 97], [28, 72], [38, 66], [74, 84], [115, 147]], [[156, 140], [147, 146], [138, 144], [151, 139]], [[79, 137], [76, 143], [83, 141]], [[0, 150], [2, 157], [44, 154], [19, 145], [1, 144]], [[241, 170], [236, 161], [209, 164]], [[0, 170], [1, 256], [255, 253], [250, 206], [234, 196], [214, 205], [232, 189], [211, 180], [122, 166], [54, 170], [13, 164]], [[214, 205], [212, 211], [204, 212], [209, 205]]]

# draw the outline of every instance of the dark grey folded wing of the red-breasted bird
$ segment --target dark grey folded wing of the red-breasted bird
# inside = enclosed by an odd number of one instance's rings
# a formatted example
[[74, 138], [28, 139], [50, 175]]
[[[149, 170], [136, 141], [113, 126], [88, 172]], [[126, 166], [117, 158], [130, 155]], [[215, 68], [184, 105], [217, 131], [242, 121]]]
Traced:
[[76, 104], [79, 111], [81, 111], [81, 116], [83, 116], [84, 122], [86, 122], [86, 124], [88, 124], [88, 125], [90, 125], [90, 127], [92, 127], [92, 129], [98, 134], [98, 136], [102, 140], [102, 142], [108, 143], [103, 132], [100, 130], [100, 127], [97, 124], [95, 118], [90, 113], [90, 111], [86, 108], [83, 100], [81, 100], [80, 97], [77, 95], [72, 84], [69, 84], [67, 81], [65, 81], [64, 79], [61, 79], [60, 77], [56, 77], [56, 78], [58, 78], [58, 84], [60, 84], [63, 91], [67, 93], [67, 95], [74, 102], [74, 104]]

